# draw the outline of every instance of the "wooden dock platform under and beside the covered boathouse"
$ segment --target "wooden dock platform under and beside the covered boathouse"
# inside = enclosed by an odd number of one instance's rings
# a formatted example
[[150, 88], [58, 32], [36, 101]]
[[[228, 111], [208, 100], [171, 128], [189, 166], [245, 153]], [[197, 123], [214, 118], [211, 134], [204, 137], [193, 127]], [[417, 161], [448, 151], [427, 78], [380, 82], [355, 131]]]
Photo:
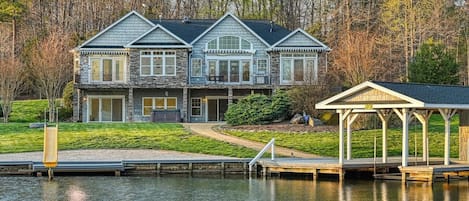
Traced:
[[258, 162], [258, 169], [264, 176], [284, 173], [312, 174], [313, 179], [320, 175], [337, 175], [339, 180], [345, 176], [367, 172], [375, 179], [418, 180], [433, 182], [436, 179], [461, 178], [469, 176], [469, 164], [442, 165], [441, 158], [432, 158], [429, 162], [410, 161], [409, 166], [401, 167], [399, 157], [393, 157], [387, 163], [375, 161], [373, 158], [361, 158], [345, 161], [339, 164], [337, 159], [316, 158], [277, 158], [275, 160], [262, 159]]

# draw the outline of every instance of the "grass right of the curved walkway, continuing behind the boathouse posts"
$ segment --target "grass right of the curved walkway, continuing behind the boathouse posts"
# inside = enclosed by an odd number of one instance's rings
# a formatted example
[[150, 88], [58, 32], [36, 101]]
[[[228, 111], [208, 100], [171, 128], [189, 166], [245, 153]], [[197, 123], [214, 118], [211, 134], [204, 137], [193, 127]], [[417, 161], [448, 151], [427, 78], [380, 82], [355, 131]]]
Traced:
[[[459, 119], [455, 117], [451, 124], [451, 157], [458, 157]], [[333, 133], [286, 133], [286, 132], [252, 132], [224, 130], [225, 133], [245, 139], [269, 142], [275, 138], [275, 143], [280, 146], [302, 150], [321, 156], [338, 156], [339, 134]], [[419, 124], [411, 125], [409, 129], [409, 156], [415, 155], [415, 142], [417, 141], [417, 155], [422, 155], [422, 134]], [[430, 119], [429, 147], [430, 156], [443, 157], [444, 154], [444, 121], [440, 115], [433, 115]], [[364, 158], [374, 155], [374, 137], [377, 138], [377, 156], [381, 156], [382, 131], [360, 130], [352, 133], [352, 157]], [[402, 149], [402, 130], [399, 128], [388, 131], [388, 155], [400, 156]], [[345, 139], [346, 140], [346, 139]]]

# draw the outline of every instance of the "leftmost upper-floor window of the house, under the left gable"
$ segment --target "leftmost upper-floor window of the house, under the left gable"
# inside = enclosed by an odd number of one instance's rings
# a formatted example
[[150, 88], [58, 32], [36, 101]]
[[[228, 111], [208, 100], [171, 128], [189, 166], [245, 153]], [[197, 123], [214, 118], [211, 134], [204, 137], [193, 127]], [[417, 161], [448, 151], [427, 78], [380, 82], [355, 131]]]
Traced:
[[123, 82], [124, 81], [124, 58], [91, 58], [91, 81], [92, 82]]

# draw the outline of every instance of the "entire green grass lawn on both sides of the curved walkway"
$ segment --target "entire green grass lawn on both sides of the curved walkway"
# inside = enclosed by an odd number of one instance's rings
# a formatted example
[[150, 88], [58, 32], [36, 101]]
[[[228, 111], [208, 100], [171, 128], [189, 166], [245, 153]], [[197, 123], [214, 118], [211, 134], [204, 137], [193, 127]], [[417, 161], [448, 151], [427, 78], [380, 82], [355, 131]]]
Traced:
[[[15, 101], [8, 124], [0, 123], [0, 153], [41, 151], [43, 130], [30, 129], [27, 123], [38, 122], [40, 114], [47, 107], [46, 100]], [[451, 157], [458, 156], [457, 116], [451, 126]], [[410, 126], [409, 155], [422, 154], [420, 124]], [[334, 133], [282, 133], [243, 132], [225, 130], [226, 133], [242, 138], [267, 143], [275, 138], [276, 144], [322, 156], [338, 156], [337, 132]], [[440, 115], [430, 119], [430, 156], [442, 157], [444, 148], [444, 122]], [[390, 129], [388, 154], [400, 156], [402, 134], [400, 128]], [[354, 131], [352, 134], [353, 157], [373, 157], [374, 136], [377, 137], [377, 154], [381, 156], [381, 129]], [[253, 157], [256, 151], [193, 135], [180, 124], [154, 123], [61, 123], [59, 148], [70, 149], [161, 149], [193, 153], [205, 153], [234, 157]]]

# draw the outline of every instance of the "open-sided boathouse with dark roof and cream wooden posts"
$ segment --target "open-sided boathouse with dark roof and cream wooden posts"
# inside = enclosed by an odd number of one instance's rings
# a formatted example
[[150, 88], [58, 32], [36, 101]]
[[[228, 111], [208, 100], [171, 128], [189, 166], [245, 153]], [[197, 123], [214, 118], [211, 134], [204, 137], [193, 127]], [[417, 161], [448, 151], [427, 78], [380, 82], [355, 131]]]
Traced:
[[[339, 114], [339, 164], [344, 164], [344, 160], [352, 159], [352, 130], [350, 128], [360, 113], [376, 113], [379, 116], [383, 135], [381, 160], [382, 163], [387, 163], [387, 128], [390, 116], [396, 114], [402, 120], [402, 157], [399, 168], [403, 180], [406, 180], [407, 175], [410, 177], [414, 173], [414, 175], [422, 175], [422, 172], [431, 172], [428, 173], [428, 180], [435, 177], [437, 173], [435, 171], [447, 175], [467, 176], [469, 174], [469, 164], [451, 165], [450, 161], [450, 123], [456, 113], [460, 115], [459, 159], [468, 161], [469, 87], [367, 81], [316, 104], [316, 108], [334, 109]], [[411, 118], [415, 117], [422, 124], [422, 161], [428, 161], [429, 118], [437, 112], [445, 122], [443, 164], [430, 167], [427, 162], [426, 166], [420, 168], [408, 167]]]

